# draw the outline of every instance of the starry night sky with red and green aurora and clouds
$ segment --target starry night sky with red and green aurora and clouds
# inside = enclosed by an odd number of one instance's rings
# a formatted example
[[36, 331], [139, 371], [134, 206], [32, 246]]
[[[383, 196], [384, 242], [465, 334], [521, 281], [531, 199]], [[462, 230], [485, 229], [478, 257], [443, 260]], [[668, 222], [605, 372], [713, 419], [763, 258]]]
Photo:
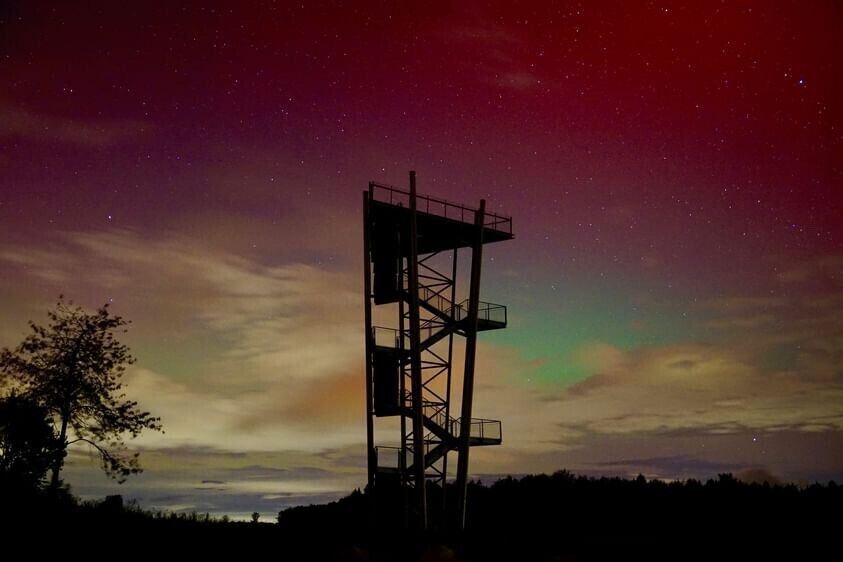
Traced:
[[166, 430], [77, 493], [363, 485], [360, 192], [411, 169], [513, 217], [475, 476], [843, 479], [840, 3], [52, 4], [0, 3], [0, 346], [112, 303]]

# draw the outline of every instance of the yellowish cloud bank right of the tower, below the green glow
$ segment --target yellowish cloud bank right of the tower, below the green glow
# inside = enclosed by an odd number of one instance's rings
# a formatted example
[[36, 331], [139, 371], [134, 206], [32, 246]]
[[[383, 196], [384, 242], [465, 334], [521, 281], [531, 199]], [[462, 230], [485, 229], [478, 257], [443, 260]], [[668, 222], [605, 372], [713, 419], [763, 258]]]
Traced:
[[765, 371], [728, 349], [654, 346], [614, 361], [550, 397], [562, 426], [622, 434], [843, 430], [843, 387]]

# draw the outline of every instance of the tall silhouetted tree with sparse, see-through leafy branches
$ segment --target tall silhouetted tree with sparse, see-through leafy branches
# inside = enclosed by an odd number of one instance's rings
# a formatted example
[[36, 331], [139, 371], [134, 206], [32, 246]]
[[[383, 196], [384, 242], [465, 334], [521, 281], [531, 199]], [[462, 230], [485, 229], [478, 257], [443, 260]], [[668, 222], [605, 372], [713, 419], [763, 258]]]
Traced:
[[128, 454], [124, 437], [161, 430], [159, 418], [121, 392], [126, 366], [135, 359], [115, 333], [125, 333], [129, 322], [112, 315], [108, 304], [87, 313], [61, 296], [47, 317], [47, 326], [30, 322], [21, 344], [0, 352], [0, 372], [53, 420], [58, 445], [50, 487], [58, 487], [67, 448], [78, 442], [93, 447], [106, 474], [122, 483], [141, 472], [138, 454]]

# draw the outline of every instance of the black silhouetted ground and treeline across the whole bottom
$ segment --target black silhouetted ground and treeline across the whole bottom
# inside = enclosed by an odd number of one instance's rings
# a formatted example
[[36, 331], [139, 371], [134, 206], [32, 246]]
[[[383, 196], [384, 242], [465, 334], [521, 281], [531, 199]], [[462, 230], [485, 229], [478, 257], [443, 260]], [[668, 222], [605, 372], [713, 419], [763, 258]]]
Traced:
[[[436, 503], [436, 492], [431, 496]], [[278, 522], [233, 523], [149, 513], [119, 501], [4, 492], [3, 535], [29, 554], [94, 559], [271, 556], [313, 561], [826, 559], [839, 545], [843, 491], [744, 484], [588, 479], [567, 472], [472, 485], [464, 533], [403, 529], [400, 492], [354, 492], [282, 511]], [[441, 513], [433, 513], [435, 521]], [[33, 540], [30, 537], [43, 537]], [[40, 558], [40, 556], [38, 557]], [[834, 556], [832, 556], [834, 558]], [[23, 559], [23, 558], [21, 558]]]

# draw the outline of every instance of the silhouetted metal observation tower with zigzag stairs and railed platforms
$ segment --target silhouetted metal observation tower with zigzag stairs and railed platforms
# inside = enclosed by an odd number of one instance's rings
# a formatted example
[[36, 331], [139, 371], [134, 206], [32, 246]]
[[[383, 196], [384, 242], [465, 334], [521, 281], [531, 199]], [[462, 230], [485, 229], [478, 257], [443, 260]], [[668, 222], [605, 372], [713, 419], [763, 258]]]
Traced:
[[[428, 488], [439, 486], [444, 504], [448, 453], [456, 451], [462, 527], [469, 449], [502, 440], [500, 421], [471, 414], [477, 333], [506, 327], [506, 307], [479, 300], [483, 245], [511, 239], [512, 219], [486, 212], [483, 200], [471, 209], [418, 195], [415, 184], [410, 172], [409, 191], [370, 182], [363, 192], [369, 486], [411, 492], [405, 513], [426, 528]], [[457, 303], [462, 248], [471, 252], [470, 283], [468, 298]], [[392, 326], [373, 325], [381, 309]], [[458, 416], [451, 407], [454, 336], [465, 338]], [[396, 418], [395, 444], [376, 445], [377, 422]]]

